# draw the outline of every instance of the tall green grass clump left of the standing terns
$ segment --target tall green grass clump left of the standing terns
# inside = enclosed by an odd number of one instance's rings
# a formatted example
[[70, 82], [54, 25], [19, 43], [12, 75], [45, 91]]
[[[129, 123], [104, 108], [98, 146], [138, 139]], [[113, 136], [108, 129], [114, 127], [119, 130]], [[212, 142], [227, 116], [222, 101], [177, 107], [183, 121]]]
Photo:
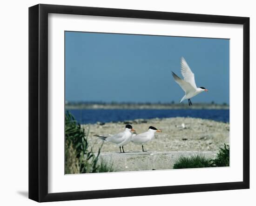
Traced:
[[[93, 152], [93, 146], [88, 141], [84, 128], [74, 119], [70, 112], [65, 115], [65, 173], [99, 173], [110, 172], [112, 165], [99, 164], [99, 155], [103, 142], [98, 148], [98, 153]], [[112, 171], [111, 171], [112, 172]]]

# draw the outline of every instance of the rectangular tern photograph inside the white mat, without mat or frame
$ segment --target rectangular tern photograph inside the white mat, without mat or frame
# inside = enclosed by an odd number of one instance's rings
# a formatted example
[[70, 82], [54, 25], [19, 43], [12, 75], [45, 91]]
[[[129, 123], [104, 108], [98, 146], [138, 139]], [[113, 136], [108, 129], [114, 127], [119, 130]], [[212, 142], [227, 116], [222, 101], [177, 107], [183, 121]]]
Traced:
[[229, 39], [64, 39], [65, 174], [229, 166]]

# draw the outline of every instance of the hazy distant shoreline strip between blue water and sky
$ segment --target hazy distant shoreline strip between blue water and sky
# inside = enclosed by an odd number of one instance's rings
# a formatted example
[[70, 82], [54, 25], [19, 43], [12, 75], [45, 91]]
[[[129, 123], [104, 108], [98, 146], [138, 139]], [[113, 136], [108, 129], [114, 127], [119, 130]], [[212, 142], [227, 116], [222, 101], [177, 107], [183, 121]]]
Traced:
[[65, 109], [229, 109], [226, 104], [65, 104]]

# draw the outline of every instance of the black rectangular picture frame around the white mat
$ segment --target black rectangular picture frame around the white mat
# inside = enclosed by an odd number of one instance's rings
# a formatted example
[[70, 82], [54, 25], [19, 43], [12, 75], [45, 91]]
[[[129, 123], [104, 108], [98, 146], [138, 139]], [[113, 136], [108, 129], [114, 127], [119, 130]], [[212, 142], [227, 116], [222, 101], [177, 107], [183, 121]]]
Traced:
[[[48, 193], [48, 13], [243, 25], [243, 181]], [[241, 128], [242, 129], [242, 128]], [[39, 4], [29, 7], [29, 199], [38, 202], [249, 188], [249, 18]]]

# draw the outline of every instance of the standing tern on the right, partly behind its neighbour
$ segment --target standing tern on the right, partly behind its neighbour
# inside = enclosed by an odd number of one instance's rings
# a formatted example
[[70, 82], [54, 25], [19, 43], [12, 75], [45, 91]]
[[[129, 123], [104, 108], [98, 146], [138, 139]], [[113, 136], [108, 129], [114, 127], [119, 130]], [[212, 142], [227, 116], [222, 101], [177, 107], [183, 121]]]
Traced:
[[154, 126], [149, 126], [148, 132], [141, 134], [133, 134], [131, 141], [135, 144], [142, 145], [142, 152], [147, 152], [144, 150], [143, 145], [153, 140], [153, 138], [155, 137], [155, 132], [161, 133], [162, 131], [156, 129]]

